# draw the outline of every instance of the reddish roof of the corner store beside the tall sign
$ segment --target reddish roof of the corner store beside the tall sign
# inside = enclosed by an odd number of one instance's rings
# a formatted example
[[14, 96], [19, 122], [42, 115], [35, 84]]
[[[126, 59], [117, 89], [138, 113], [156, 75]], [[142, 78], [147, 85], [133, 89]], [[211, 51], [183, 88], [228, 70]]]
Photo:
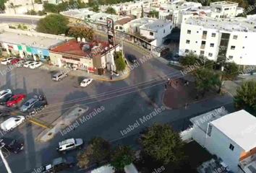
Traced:
[[67, 53], [73, 56], [82, 56], [85, 58], [93, 58], [93, 56], [102, 55], [109, 50], [109, 44], [107, 42], [82, 43], [77, 40], [70, 40], [67, 43], [58, 45], [51, 49], [51, 52], [55, 53]]

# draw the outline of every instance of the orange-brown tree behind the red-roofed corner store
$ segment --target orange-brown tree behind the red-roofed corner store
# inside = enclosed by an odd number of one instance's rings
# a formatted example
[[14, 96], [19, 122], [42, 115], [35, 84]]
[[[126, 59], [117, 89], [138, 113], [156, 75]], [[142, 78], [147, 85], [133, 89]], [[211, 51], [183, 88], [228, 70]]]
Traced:
[[71, 37], [84, 37], [85, 40], [93, 40], [93, 29], [83, 26], [70, 27], [68, 35]]

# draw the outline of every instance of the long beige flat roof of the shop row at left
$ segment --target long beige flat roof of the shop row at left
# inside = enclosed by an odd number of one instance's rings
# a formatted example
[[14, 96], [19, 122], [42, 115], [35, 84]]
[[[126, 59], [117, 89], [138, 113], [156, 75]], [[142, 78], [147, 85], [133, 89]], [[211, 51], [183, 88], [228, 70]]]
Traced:
[[29, 32], [27, 35], [16, 32], [1, 32], [0, 42], [11, 43], [16, 45], [27, 45], [34, 48], [49, 49], [60, 43], [67, 41], [67, 37], [48, 37], [47, 35], [41, 36]]

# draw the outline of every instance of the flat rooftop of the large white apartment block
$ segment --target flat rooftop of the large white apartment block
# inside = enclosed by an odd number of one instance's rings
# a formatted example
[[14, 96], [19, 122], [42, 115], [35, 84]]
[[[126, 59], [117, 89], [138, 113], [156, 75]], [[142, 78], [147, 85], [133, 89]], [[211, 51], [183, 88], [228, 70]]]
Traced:
[[185, 22], [205, 28], [223, 30], [227, 32], [256, 32], [256, 22], [241, 19], [213, 19], [210, 17], [190, 17]]

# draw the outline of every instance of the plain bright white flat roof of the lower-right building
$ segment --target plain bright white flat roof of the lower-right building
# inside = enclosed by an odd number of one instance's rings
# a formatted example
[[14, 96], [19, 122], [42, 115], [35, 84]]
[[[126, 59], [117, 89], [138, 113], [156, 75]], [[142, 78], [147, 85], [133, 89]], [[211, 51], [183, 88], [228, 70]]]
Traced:
[[244, 151], [256, 146], [256, 117], [245, 110], [239, 110], [210, 122]]

